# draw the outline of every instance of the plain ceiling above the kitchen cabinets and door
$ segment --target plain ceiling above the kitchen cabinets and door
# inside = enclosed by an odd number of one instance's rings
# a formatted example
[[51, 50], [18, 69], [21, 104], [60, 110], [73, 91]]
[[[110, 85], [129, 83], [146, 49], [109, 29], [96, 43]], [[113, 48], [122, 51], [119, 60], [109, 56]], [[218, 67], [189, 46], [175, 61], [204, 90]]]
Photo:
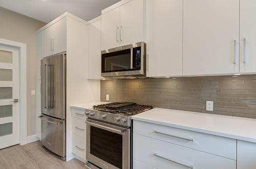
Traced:
[[0, 6], [48, 23], [66, 11], [88, 21], [99, 16], [102, 9], [119, 1], [120, 0], [0, 0]]

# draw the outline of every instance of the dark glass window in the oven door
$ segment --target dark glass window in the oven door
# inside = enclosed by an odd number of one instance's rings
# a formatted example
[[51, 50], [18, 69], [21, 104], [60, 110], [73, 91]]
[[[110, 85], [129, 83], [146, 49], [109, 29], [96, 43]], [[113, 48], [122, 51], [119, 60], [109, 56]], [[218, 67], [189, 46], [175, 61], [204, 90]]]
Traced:
[[90, 154], [122, 168], [122, 135], [94, 126], [90, 132]]

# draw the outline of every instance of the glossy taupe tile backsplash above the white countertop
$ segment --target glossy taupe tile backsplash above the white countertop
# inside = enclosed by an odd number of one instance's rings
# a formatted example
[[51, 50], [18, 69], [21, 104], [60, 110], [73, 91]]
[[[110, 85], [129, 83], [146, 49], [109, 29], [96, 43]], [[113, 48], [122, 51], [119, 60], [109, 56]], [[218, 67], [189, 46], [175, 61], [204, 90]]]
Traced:
[[106, 94], [111, 102], [256, 119], [256, 75], [101, 80], [101, 101]]

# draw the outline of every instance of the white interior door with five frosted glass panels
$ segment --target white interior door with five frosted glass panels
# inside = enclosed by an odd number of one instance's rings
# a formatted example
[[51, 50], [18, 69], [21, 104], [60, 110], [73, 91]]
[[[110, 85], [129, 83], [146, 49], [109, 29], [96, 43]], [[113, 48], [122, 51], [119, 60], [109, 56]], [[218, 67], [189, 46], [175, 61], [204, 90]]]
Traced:
[[18, 56], [18, 48], [0, 45], [0, 149], [19, 144]]

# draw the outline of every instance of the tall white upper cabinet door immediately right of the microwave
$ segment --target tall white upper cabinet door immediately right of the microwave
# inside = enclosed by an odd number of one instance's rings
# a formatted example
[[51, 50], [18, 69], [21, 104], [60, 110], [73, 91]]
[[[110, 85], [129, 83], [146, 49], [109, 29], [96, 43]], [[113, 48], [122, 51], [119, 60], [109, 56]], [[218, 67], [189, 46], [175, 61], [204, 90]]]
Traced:
[[146, 3], [147, 76], [182, 75], [182, 1]]

